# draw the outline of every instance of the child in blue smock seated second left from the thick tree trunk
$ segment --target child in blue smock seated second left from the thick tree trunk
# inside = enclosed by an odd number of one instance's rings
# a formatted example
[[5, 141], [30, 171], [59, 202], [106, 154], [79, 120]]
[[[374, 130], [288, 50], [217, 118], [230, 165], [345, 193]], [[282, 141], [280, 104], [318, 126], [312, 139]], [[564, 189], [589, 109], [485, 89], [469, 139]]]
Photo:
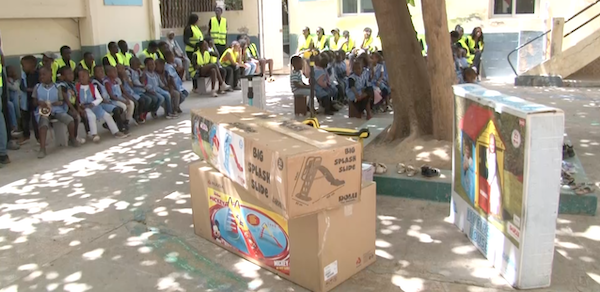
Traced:
[[346, 96], [349, 102], [353, 102], [356, 110], [361, 113], [367, 112], [367, 120], [373, 116], [373, 87], [369, 86], [369, 75], [363, 70], [362, 62], [354, 62], [352, 74], [348, 78]]

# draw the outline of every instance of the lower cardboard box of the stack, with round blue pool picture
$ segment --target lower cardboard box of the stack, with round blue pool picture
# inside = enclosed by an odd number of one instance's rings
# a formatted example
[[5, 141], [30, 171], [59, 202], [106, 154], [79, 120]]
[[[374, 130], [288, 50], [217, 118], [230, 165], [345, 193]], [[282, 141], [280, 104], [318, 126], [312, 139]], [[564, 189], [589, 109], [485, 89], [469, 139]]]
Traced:
[[313, 291], [329, 291], [375, 262], [375, 183], [362, 200], [286, 220], [206, 162], [190, 166], [197, 235]]

